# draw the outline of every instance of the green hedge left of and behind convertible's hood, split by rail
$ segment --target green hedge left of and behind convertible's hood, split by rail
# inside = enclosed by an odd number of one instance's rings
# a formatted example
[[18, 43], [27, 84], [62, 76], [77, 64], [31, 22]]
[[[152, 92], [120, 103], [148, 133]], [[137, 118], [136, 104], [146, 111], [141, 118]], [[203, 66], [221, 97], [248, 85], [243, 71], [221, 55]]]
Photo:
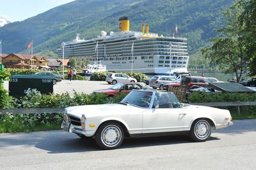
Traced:
[[[109, 98], [103, 93], [74, 93], [71, 98], [68, 93], [62, 95], [41, 95], [35, 89], [30, 89], [26, 97], [19, 100], [13, 99], [9, 105], [15, 108], [46, 108], [46, 107], [69, 107], [74, 105], [90, 104], [113, 104], [120, 102], [126, 93], [121, 93], [113, 98]], [[31, 132], [36, 130], [58, 129], [61, 125], [63, 114], [1, 114], [0, 113], [0, 133], [4, 132]]]

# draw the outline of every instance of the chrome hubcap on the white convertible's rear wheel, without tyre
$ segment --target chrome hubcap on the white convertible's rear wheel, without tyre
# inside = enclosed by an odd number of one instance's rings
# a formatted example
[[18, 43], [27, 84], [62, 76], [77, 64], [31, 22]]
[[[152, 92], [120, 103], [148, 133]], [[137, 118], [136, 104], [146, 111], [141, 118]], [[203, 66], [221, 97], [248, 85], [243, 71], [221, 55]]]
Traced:
[[209, 123], [207, 123], [206, 121], [199, 121], [198, 123], [196, 123], [195, 134], [197, 137], [199, 137], [200, 139], [204, 139], [208, 137], [209, 132], [210, 132]]

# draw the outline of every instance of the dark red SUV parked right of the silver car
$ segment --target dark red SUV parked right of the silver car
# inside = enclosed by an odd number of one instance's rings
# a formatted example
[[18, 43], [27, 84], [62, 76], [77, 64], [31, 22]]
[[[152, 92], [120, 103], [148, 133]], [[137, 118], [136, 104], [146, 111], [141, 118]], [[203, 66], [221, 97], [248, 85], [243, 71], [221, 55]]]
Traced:
[[205, 77], [188, 76], [188, 77], [183, 77], [181, 79], [180, 86], [182, 86], [183, 88], [186, 88], [186, 90], [189, 90], [189, 89], [195, 89], [198, 87], [207, 87], [208, 84], [205, 83]]

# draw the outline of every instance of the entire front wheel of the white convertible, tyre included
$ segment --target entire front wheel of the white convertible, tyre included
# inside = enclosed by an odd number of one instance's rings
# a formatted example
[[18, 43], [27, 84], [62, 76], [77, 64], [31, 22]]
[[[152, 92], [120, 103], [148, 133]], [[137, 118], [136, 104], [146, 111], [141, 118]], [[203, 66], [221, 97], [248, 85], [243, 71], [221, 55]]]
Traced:
[[95, 141], [104, 150], [116, 149], [124, 141], [124, 130], [119, 123], [106, 122], [97, 130]]

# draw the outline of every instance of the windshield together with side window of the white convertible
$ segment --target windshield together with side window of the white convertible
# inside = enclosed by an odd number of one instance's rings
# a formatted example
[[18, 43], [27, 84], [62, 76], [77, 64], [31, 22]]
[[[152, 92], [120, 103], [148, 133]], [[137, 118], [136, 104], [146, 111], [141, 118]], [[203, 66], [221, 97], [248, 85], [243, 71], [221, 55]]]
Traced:
[[172, 92], [156, 91], [154, 97], [152, 91], [131, 91], [122, 101], [138, 107], [148, 108], [178, 108], [180, 102]]

